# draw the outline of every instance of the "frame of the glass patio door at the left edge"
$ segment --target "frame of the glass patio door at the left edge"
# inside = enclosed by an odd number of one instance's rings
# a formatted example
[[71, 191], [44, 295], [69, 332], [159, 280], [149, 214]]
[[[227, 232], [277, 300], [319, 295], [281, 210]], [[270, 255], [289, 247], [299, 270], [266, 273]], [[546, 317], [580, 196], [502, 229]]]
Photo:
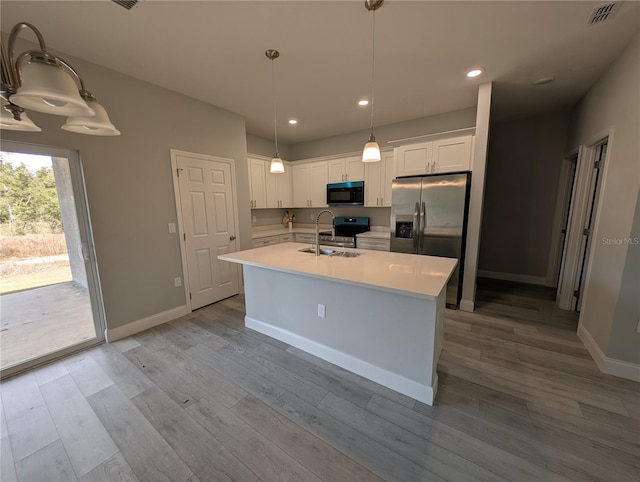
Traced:
[[[87, 291], [89, 293], [89, 301], [91, 303], [91, 314], [93, 316], [93, 324], [96, 331], [96, 337], [92, 340], [76, 343], [75, 345], [71, 345], [61, 350], [43, 355], [41, 357], [28, 360], [19, 365], [3, 369], [2, 371], [0, 371], [0, 379], [4, 379], [29, 370], [31, 368], [44, 365], [72, 353], [104, 343], [107, 325], [106, 315], [104, 311], [104, 300], [102, 299], [102, 286], [100, 284], [98, 262], [95, 252], [93, 228], [91, 226], [87, 189], [84, 182], [84, 170], [82, 167], [82, 158], [80, 156], [80, 152], [73, 149], [64, 149], [44, 144], [30, 144], [26, 142], [10, 140], [3, 140], [1, 149], [5, 152], [37, 154], [50, 156], [52, 158], [62, 157], [69, 160], [69, 170], [72, 180], [71, 187], [73, 189], [73, 195], [75, 199], [74, 204], [76, 208], [76, 215], [78, 216], [78, 230], [80, 232], [80, 239], [86, 242], [87, 254], [89, 256], [89, 262], [85, 261], [84, 267], [87, 274]], [[69, 254], [72, 255], [75, 253]]]

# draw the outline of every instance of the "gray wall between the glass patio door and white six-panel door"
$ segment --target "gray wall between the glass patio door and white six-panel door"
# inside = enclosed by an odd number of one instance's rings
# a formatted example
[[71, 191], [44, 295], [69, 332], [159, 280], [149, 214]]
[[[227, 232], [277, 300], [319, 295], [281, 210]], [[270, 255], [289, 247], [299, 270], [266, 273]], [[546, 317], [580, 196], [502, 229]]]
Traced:
[[4, 139], [80, 152], [108, 328], [185, 304], [170, 149], [234, 159], [240, 248], [251, 247], [244, 119], [117, 72], [65, 56], [107, 109], [120, 137], [62, 131], [64, 118], [30, 114], [41, 133]]

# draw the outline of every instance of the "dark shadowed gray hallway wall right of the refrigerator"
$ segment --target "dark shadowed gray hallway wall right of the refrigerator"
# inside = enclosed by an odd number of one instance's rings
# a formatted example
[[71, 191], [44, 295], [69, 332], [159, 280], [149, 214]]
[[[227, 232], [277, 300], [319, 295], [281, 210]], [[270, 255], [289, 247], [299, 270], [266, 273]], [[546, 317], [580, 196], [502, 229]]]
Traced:
[[569, 113], [492, 123], [479, 269], [544, 278]]

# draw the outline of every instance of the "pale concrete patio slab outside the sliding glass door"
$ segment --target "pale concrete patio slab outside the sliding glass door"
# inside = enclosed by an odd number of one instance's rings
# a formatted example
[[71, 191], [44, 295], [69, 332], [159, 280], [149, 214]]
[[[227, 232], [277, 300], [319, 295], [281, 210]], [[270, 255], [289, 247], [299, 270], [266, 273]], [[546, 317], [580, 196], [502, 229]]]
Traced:
[[69, 281], [0, 296], [0, 368], [95, 337], [86, 288]]

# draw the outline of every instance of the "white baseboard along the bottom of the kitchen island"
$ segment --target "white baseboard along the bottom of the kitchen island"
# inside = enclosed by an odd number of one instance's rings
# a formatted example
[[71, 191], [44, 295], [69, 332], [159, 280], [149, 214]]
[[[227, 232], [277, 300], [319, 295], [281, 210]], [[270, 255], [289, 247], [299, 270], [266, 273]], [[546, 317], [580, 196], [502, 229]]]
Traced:
[[334, 348], [322, 345], [318, 342], [309, 340], [290, 331], [283, 330], [282, 328], [269, 325], [262, 321], [256, 320], [249, 316], [245, 316], [244, 323], [247, 328], [263, 333], [267, 336], [275, 338], [276, 340], [288, 343], [291, 346], [295, 346], [307, 353], [315, 355], [323, 360], [326, 360], [334, 365], [356, 373], [362, 377], [365, 377], [371, 381], [379, 383], [391, 390], [407, 395], [415, 400], [426, 403], [427, 405], [433, 405], [433, 401], [436, 397], [436, 391], [438, 390], [438, 374], [436, 373], [431, 386], [422, 385], [414, 380], [410, 380], [402, 375], [392, 373], [384, 368], [377, 367], [368, 362], [355, 358], [351, 355], [347, 355]]

